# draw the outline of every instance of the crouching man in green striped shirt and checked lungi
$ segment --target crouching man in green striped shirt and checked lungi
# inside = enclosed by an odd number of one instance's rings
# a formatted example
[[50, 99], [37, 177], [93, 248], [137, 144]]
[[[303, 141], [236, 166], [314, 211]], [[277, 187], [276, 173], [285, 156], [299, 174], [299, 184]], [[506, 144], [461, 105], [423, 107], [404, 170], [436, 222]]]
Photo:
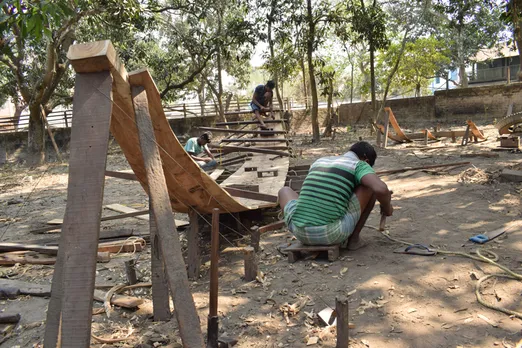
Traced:
[[360, 141], [342, 156], [315, 161], [299, 195], [289, 187], [279, 191], [285, 222], [301, 243], [357, 250], [375, 200], [382, 215], [392, 215], [391, 191], [372, 168], [376, 159], [375, 149]]

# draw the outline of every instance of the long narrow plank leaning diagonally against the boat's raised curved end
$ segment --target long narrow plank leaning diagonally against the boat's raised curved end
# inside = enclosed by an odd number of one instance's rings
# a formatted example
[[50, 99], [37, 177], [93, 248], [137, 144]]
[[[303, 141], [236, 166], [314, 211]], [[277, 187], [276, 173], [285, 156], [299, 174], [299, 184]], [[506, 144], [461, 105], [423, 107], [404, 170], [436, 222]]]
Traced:
[[172, 213], [161, 157], [149, 116], [147, 95], [144, 88], [132, 87], [132, 96], [152, 211], [156, 220], [167, 280], [176, 308], [175, 313], [181, 340], [183, 347], [201, 348], [203, 347], [203, 336], [199, 317], [190, 293], [179, 237], [175, 233], [174, 214]]

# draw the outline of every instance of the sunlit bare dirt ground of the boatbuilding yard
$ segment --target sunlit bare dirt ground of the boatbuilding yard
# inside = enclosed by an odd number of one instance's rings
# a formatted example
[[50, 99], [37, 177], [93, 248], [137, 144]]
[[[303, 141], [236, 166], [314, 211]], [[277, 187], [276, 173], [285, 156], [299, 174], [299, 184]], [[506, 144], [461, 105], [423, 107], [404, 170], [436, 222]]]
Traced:
[[[428, 146], [421, 142], [390, 145], [378, 150], [375, 169], [387, 170], [469, 161], [459, 167], [409, 171], [383, 175], [394, 191], [395, 212], [388, 218], [390, 236], [433, 248], [471, 252], [477, 245], [469, 237], [492, 231], [514, 220], [521, 220], [521, 184], [501, 182], [504, 168], [522, 170], [522, 155], [493, 152], [498, 145], [496, 130], [481, 127], [489, 140], [467, 147], [450, 140]], [[373, 142], [369, 130], [339, 128], [335, 140], [310, 144], [306, 130], [294, 136], [298, 157], [293, 164], [311, 163], [325, 155], [342, 154], [359, 137]], [[462, 154], [498, 154], [497, 158], [461, 158]], [[108, 170], [128, 169], [117, 145], [111, 147]], [[50, 164], [28, 170], [7, 164], [0, 171], [0, 240], [27, 242], [55, 234], [35, 235], [28, 231], [45, 227], [54, 218], [63, 218], [67, 198], [67, 165]], [[146, 209], [148, 199], [138, 183], [108, 178], [104, 205], [120, 203]], [[259, 254], [260, 279], [242, 279], [242, 255], [224, 252], [219, 272], [220, 333], [238, 338], [237, 347], [335, 347], [335, 328], [320, 323], [317, 313], [334, 308], [335, 298], [348, 296], [350, 347], [515, 347], [522, 339], [522, 321], [481, 306], [475, 297], [477, 277], [502, 273], [491, 265], [464, 257], [438, 254], [414, 256], [393, 251], [400, 244], [385, 238], [371, 227], [379, 224], [379, 209], [371, 214], [362, 236], [368, 245], [354, 252], [342, 251], [335, 262], [325, 258], [289, 264], [276, 247], [292, 239], [285, 230], [262, 236]], [[104, 209], [103, 215], [115, 214]], [[187, 219], [176, 214], [178, 219]], [[267, 219], [270, 221], [270, 219]], [[132, 228], [146, 233], [148, 222], [136, 218], [102, 223], [104, 229]], [[234, 228], [234, 227], [232, 227]], [[185, 232], [181, 231], [186, 246]], [[225, 239], [226, 238], [226, 239]], [[222, 249], [246, 243], [246, 239], [226, 232]], [[197, 281], [191, 282], [201, 329], [206, 332], [208, 315], [208, 236], [205, 237], [203, 267]], [[514, 228], [483, 248], [494, 251], [499, 263], [522, 273], [522, 227]], [[139, 280], [150, 281], [150, 249], [136, 254], [116, 255], [108, 264], [98, 264], [98, 285], [125, 283], [123, 262], [137, 260]], [[36, 284], [50, 284], [53, 266], [16, 265], [0, 268], [0, 277]], [[521, 311], [522, 283], [496, 278], [482, 290], [492, 304]], [[130, 295], [144, 297], [138, 311], [116, 308], [111, 318], [93, 317], [93, 333], [104, 338], [129, 340], [93, 347], [181, 347], [175, 317], [166, 323], [151, 319], [149, 289]], [[280, 307], [297, 301], [305, 303], [295, 316], [285, 320]], [[1, 347], [40, 347], [43, 341], [48, 299], [22, 296], [0, 302], [6, 312], [21, 313], [20, 324]], [[100, 303], [95, 303], [100, 308]], [[484, 319], [486, 318], [486, 319]], [[142, 346], [147, 347], [147, 346]]]

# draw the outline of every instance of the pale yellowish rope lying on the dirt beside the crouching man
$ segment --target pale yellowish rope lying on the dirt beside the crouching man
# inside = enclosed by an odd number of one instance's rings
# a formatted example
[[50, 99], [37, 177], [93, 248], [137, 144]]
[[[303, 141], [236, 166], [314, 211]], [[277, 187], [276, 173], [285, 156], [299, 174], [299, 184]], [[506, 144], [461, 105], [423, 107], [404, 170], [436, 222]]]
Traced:
[[[377, 228], [375, 228], [373, 226], [366, 226], [366, 227], [379, 231]], [[400, 239], [391, 237], [389, 235], [388, 230], [379, 231], [379, 232], [384, 237], [386, 237], [387, 239], [389, 239], [393, 242], [401, 243], [401, 244], [405, 244], [405, 245], [413, 245], [412, 243], [408, 243], [408, 242], [402, 241]], [[503, 270], [504, 272], [506, 272], [507, 274], [495, 273], [495, 274], [489, 274], [489, 275], [481, 277], [475, 284], [475, 296], [477, 297], [478, 303], [480, 303], [481, 305], [483, 305], [486, 308], [493, 309], [493, 310], [517, 317], [519, 319], [522, 319], [521, 312], [513, 311], [513, 310], [505, 308], [505, 307], [501, 307], [501, 306], [497, 306], [497, 305], [488, 303], [484, 300], [484, 298], [482, 297], [482, 294], [480, 292], [482, 283], [490, 278], [495, 278], [495, 277], [496, 278], [507, 278], [507, 279], [514, 279], [514, 280], [522, 281], [522, 274], [515, 273], [512, 270], [510, 270], [509, 268], [496, 262], [499, 260], [499, 257], [497, 254], [495, 254], [494, 252], [492, 252], [490, 250], [485, 250], [485, 249], [477, 249], [477, 251], [476, 251], [477, 256], [474, 256], [474, 255], [471, 255], [468, 253], [464, 253], [464, 252], [460, 252], [460, 251], [449, 251], [449, 250], [440, 250], [440, 249], [433, 249], [433, 250], [435, 250], [438, 254], [451, 255], [451, 256], [462, 256], [462, 257], [467, 257], [472, 260], [489, 263], [490, 265], [498, 267], [501, 270]], [[485, 256], [485, 254], [487, 254], [490, 257]]]

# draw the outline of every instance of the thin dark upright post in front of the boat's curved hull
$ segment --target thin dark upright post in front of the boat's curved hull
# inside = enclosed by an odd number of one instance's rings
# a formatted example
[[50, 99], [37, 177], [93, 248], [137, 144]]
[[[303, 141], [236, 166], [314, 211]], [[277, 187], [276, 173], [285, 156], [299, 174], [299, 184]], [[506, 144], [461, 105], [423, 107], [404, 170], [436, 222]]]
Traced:
[[210, 242], [210, 297], [208, 304], [207, 348], [218, 348], [218, 264], [219, 264], [219, 209], [212, 209], [212, 234]]

